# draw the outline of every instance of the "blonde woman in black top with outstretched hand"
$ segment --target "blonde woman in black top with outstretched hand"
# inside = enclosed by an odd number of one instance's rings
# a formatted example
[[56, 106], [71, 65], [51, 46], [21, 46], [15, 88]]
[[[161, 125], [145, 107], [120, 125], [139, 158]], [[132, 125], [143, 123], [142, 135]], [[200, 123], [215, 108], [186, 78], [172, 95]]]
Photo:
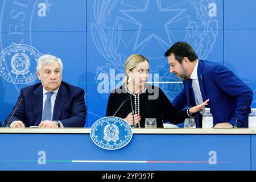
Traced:
[[[123, 118], [133, 125], [134, 114], [136, 127], [144, 127], [146, 118], [156, 118], [157, 127], [163, 127], [163, 119], [174, 124], [182, 123], [185, 118], [194, 117], [197, 111], [208, 105], [209, 100], [183, 111], [175, 110], [162, 89], [147, 84], [148, 72], [149, 62], [146, 57], [134, 54], [127, 58], [125, 62], [126, 77], [122, 86], [110, 93], [106, 116], [113, 116], [122, 102], [129, 98], [129, 94], [133, 100], [134, 113], [131, 112], [131, 102], [127, 101], [115, 116]], [[156, 96], [152, 97], [154, 95]]]

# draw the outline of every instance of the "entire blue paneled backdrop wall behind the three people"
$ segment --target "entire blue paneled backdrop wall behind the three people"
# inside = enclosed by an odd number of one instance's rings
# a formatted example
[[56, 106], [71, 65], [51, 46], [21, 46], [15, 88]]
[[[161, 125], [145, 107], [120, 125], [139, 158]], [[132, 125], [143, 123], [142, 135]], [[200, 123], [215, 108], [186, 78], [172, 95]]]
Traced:
[[[254, 0], [2, 0], [0, 121], [19, 90], [39, 82], [26, 81], [36, 72], [33, 53], [28, 55], [29, 72], [12, 71], [15, 52], [8, 55], [5, 50], [14, 44], [63, 60], [63, 80], [85, 90], [86, 127], [105, 116], [110, 90], [119, 85], [123, 64], [133, 53], [149, 59], [149, 81], [160, 82], [156, 84], [173, 100], [183, 85], [170, 83], [179, 80], [169, 73], [164, 52], [181, 40], [190, 43], [200, 59], [231, 69], [255, 93], [255, 6]], [[256, 107], [255, 96], [251, 107]]]

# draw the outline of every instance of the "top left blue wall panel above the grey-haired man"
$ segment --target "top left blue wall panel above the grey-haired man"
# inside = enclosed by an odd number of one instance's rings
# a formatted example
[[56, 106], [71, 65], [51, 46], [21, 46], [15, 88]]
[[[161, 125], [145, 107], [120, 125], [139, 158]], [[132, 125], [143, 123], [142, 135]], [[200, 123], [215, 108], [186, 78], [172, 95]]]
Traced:
[[[44, 3], [44, 5], [42, 5]], [[1, 31], [85, 31], [86, 1], [1, 1]], [[42, 11], [42, 7], [46, 11]]]

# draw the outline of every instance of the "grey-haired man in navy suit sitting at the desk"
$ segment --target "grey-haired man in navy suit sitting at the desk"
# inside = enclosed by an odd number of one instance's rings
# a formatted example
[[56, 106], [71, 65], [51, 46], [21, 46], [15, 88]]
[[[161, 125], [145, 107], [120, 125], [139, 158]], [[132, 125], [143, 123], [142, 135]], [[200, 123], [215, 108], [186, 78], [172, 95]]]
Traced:
[[84, 127], [84, 90], [62, 81], [61, 60], [44, 55], [38, 59], [36, 69], [41, 83], [20, 90], [14, 106], [17, 109], [5, 119], [6, 126]]

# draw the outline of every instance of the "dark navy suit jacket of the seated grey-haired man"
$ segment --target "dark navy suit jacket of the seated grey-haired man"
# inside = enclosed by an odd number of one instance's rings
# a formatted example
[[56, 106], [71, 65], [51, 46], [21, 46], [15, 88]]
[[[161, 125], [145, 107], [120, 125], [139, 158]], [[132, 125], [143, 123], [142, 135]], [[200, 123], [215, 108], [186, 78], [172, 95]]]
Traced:
[[[5, 119], [5, 123], [7, 124], [9, 121], [21, 98], [23, 102], [18, 106], [9, 124], [20, 120], [25, 123], [26, 127], [38, 126], [42, 119], [43, 110], [43, 86], [41, 83], [20, 90], [18, 101], [9, 117]], [[64, 81], [61, 82], [55, 100], [52, 120], [60, 121], [64, 127], [84, 127], [85, 118], [84, 90]]]

